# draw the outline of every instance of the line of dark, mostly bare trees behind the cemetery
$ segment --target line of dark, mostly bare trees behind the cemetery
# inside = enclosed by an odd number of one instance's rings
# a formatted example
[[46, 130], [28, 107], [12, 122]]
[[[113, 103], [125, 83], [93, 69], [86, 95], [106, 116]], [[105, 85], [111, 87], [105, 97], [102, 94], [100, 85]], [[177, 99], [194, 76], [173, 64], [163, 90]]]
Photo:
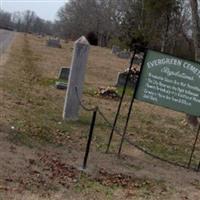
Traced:
[[141, 43], [191, 58], [200, 43], [198, 4], [200, 0], [69, 0], [54, 22], [30, 10], [0, 10], [0, 25], [64, 39], [90, 34], [99, 46], [131, 48]]

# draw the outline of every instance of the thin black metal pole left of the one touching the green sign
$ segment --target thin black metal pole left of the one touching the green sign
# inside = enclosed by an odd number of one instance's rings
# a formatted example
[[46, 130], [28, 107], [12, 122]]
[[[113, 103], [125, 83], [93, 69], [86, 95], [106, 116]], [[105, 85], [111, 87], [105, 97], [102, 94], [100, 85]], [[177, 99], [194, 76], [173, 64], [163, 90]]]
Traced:
[[108, 153], [108, 151], [109, 151], [110, 144], [111, 144], [111, 141], [112, 141], [112, 138], [113, 138], [113, 133], [114, 133], [114, 130], [115, 130], [115, 127], [116, 127], [116, 124], [117, 124], [118, 117], [119, 117], [120, 109], [121, 109], [121, 106], [122, 106], [122, 101], [124, 99], [124, 95], [125, 95], [125, 92], [126, 92], [126, 88], [127, 88], [128, 80], [129, 80], [129, 77], [130, 77], [131, 68], [133, 66], [133, 61], [134, 61], [135, 55], [136, 55], [136, 49], [134, 49], [133, 56], [131, 58], [128, 74], [126, 76], [126, 81], [125, 81], [123, 92], [122, 92], [122, 96], [120, 98], [120, 102], [119, 102], [119, 105], [118, 105], [117, 113], [115, 115], [115, 120], [114, 120], [114, 123], [113, 123], [113, 126], [112, 126], [112, 131], [110, 133], [110, 137], [109, 137], [106, 153]]

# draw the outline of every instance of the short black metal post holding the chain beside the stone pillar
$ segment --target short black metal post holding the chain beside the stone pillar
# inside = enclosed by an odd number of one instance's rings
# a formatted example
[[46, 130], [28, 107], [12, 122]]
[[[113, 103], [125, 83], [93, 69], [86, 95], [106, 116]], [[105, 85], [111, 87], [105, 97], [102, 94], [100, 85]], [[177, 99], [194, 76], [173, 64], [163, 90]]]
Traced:
[[86, 146], [86, 150], [85, 150], [83, 169], [86, 169], [86, 167], [87, 167], [87, 160], [88, 160], [88, 155], [90, 152], [90, 146], [91, 146], [91, 142], [92, 142], [93, 130], [94, 130], [95, 121], [96, 121], [96, 115], [97, 115], [97, 109], [93, 112], [92, 121], [90, 124], [90, 132], [89, 132], [87, 146]]

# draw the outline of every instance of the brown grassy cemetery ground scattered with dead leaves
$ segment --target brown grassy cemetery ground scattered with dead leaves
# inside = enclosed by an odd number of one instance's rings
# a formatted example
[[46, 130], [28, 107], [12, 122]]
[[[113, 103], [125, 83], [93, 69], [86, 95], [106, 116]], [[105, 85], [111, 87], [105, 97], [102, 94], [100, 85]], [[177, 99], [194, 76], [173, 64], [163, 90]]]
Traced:
[[[77, 122], [64, 122], [65, 91], [55, 89], [61, 66], [69, 66], [73, 43], [49, 48], [45, 38], [16, 34], [0, 74], [0, 199], [190, 199], [200, 198], [200, 172], [154, 159], [115, 134], [105, 154], [110, 127], [97, 116], [88, 168], [82, 165], [91, 113], [81, 109]], [[112, 122], [118, 101], [96, 94], [112, 86], [128, 65], [106, 48], [91, 47], [83, 102], [98, 105]], [[3, 76], [2, 76], [3, 75]], [[120, 93], [119, 89], [119, 93]], [[128, 90], [118, 127], [123, 129], [130, 102]], [[136, 101], [128, 137], [144, 149], [187, 165], [195, 130], [185, 115]], [[192, 166], [200, 160], [200, 144]]]

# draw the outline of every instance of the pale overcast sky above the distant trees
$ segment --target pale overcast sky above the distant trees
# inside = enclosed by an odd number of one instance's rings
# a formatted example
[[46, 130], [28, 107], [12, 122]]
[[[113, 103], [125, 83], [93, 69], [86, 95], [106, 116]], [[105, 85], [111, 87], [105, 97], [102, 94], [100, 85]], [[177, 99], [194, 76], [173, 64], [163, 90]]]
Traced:
[[32, 10], [46, 20], [54, 21], [58, 9], [67, 0], [0, 0], [1, 9], [8, 12]]

